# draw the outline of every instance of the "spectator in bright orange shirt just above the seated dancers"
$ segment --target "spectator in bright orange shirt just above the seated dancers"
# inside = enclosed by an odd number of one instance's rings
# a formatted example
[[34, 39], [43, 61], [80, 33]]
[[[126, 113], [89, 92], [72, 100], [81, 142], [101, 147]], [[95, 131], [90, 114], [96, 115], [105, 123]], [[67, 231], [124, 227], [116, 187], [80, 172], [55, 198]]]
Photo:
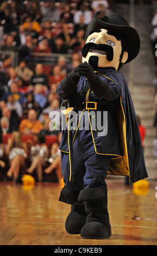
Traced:
[[39, 133], [43, 129], [42, 123], [37, 120], [37, 113], [34, 109], [28, 111], [28, 118], [23, 119], [19, 131], [25, 134]]

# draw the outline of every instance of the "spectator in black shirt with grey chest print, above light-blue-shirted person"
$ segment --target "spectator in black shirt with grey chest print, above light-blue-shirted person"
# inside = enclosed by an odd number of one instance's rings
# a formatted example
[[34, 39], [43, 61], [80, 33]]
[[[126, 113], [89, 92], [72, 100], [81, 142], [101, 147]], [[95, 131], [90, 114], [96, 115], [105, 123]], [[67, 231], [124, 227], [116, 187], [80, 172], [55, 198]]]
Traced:
[[43, 65], [41, 63], [36, 64], [35, 74], [30, 78], [30, 85], [35, 86], [36, 83], [43, 84], [43, 86], [48, 86], [47, 76], [43, 74]]

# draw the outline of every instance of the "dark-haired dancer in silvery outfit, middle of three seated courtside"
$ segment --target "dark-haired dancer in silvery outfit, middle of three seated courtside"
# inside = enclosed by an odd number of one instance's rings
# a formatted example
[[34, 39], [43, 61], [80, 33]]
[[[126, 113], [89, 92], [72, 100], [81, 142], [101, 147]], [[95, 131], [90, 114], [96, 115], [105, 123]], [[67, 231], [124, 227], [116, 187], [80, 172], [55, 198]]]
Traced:
[[32, 174], [34, 170], [37, 173], [38, 181], [42, 181], [42, 168], [46, 164], [46, 158], [48, 157], [48, 148], [45, 143], [44, 135], [36, 135], [34, 145], [30, 150], [32, 163], [27, 169], [27, 173]]

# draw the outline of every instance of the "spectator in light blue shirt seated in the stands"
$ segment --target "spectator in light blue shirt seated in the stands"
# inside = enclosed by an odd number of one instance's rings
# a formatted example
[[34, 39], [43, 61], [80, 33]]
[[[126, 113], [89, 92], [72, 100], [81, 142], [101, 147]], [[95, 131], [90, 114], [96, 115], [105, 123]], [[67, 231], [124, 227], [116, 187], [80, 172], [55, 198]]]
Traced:
[[47, 99], [43, 95], [43, 86], [40, 83], [35, 84], [35, 87], [34, 87], [34, 101], [41, 108], [43, 108], [46, 105]]

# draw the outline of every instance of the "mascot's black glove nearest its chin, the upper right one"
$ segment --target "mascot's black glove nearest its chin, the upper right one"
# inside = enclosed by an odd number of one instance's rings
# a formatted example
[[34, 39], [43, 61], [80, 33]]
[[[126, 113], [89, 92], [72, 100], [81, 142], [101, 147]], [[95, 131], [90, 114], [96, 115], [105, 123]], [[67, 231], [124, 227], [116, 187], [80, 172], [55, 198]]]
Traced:
[[92, 66], [87, 62], [80, 63], [78, 65], [78, 74], [87, 78], [87, 81], [90, 83], [91, 89], [96, 85], [96, 74]]

